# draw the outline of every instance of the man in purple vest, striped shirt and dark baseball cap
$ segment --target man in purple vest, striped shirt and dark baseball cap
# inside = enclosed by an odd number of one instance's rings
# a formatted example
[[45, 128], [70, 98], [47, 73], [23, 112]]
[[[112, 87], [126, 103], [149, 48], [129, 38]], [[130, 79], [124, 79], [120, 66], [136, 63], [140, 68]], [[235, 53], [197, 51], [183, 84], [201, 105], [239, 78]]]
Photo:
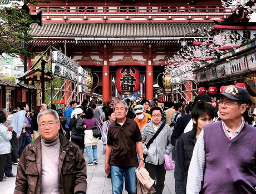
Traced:
[[189, 166], [186, 193], [256, 193], [256, 128], [243, 121], [249, 93], [219, 93], [222, 121], [204, 126]]

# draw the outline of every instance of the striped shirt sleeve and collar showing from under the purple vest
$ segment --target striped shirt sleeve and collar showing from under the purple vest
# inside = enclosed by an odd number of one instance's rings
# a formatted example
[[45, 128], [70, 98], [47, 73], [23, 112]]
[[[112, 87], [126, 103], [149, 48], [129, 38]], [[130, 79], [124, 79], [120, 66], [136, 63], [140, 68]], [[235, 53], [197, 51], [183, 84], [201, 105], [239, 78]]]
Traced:
[[[234, 135], [231, 130], [222, 122], [223, 130], [229, 139], [236, 137], [244, 127], [244, 122], [242, 121], [238, 130], [235, 131]], [[230, 132], [228, 132], [228, 130]], [[231, 134], [230, 134], [231, 133]], [[198, 137], [198, 140], [195, 143], [193, 156], [189, 165], [188, 172], [188, 182], [186, 185], [186, 194], [195, 194], [201, 191], [201, 182], [204, 177], [204, 168], [205, 168], [205, 150], [204, 150], [204, 129], [201, 130], [201, 133]]]

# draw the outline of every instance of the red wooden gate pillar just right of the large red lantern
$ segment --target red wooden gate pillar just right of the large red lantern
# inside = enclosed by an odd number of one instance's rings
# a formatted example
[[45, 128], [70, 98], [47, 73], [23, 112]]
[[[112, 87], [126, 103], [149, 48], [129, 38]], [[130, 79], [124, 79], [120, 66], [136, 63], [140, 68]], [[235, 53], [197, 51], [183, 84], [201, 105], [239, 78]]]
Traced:
[[149, 55], [146, 66], [146, 99], [153, 100], [153, 66], [151, 64], [151, 44], [149, 44]]

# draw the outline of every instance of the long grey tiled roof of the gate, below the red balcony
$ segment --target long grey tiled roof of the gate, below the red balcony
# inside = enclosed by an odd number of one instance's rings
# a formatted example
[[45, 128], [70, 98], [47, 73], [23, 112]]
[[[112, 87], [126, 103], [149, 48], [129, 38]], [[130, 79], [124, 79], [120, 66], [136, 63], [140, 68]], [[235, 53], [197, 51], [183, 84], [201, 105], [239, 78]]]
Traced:
[[183, 37], [213, 23], [43, 23], [31, 24], [35, 37]]

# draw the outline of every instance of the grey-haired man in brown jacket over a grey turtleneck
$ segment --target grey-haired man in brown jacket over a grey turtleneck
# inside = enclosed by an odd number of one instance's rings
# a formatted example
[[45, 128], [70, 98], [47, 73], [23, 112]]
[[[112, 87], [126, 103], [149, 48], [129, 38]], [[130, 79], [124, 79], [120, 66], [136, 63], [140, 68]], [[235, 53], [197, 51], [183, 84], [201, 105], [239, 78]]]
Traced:
[[42, 111], [37, 122], [41, 136], [19, 159], [14, 193], [86, 194], [85, 160], [76, 145], [58, 134], [58, 113]]

